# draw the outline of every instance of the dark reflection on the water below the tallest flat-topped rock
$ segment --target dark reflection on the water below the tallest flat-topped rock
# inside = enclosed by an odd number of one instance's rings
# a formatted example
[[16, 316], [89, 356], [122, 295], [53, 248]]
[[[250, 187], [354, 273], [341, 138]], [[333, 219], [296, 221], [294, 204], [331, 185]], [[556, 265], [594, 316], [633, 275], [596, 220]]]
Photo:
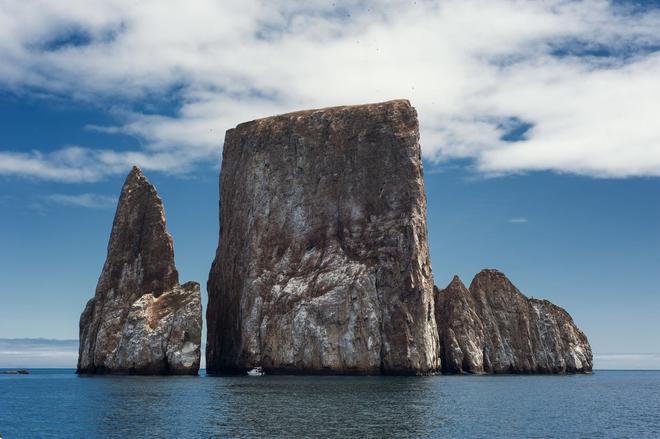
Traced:
[[[217, 379], [217, 378], [212, 378]], [[221, 378], [220, 378], [221, 379]], [[258, 381], [256, 381], [258, 380]], [[209, 386], [204, 431], [230, 436], [364, 436], [429, 431], [426, 378], [265, 377]]]

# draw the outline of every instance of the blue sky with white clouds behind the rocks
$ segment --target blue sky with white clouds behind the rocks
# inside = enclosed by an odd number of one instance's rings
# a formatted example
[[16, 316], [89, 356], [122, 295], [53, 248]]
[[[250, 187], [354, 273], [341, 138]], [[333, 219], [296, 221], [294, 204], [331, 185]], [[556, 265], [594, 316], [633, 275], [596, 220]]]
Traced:
[[75, 362], [133, 164], [205, 285], [227, 129], [407, 98], [436, 283], [500, 269], [660, 368], [659, 2], [0, 0], [0, 60], [0, 367]]

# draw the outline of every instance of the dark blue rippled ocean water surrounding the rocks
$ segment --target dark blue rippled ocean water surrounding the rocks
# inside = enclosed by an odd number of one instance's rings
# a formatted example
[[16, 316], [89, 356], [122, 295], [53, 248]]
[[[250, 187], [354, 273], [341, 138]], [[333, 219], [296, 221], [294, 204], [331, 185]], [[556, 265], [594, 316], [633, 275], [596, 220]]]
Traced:
[[660, 371], [568, 376], [0, 375], [0, 436], [660, 437]]

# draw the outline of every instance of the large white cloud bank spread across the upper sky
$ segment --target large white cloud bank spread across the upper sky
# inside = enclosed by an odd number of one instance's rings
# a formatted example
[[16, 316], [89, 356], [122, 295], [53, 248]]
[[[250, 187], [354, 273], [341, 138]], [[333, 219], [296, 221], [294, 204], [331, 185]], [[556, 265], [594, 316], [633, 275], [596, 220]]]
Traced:
[[[431, 162], [660, 176], [658, 28], [658, 9], [602, 0], [0, 0], [0, 86], [120, 101], [120, 123], [92, 128], [144, 145], [5, 150], [0, 174], [174, 172], [217, 161], [245, 120], [407, 97]], [[159, 98], [174, 109], [140, 111]]]

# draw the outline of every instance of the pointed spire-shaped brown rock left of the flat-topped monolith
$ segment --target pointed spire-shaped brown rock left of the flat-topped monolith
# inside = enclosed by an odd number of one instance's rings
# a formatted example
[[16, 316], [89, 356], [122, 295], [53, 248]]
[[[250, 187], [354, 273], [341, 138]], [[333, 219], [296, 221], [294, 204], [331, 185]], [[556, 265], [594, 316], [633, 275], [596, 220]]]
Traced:
[[96, 294], [80, 316], [78, 373], [197, 374], [199, 284], [179, 285], [163, 203], [134, 167]]

